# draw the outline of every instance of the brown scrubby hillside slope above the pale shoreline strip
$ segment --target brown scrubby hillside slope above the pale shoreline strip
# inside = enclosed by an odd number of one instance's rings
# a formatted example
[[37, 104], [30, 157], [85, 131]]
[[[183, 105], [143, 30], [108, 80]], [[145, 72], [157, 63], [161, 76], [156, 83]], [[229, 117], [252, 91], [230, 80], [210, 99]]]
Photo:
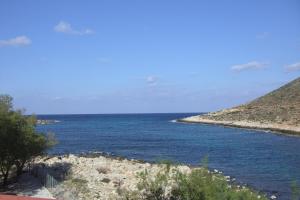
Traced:
[[205, 118], [300, 125], [300, 78], [248, 104], [209, 113]]

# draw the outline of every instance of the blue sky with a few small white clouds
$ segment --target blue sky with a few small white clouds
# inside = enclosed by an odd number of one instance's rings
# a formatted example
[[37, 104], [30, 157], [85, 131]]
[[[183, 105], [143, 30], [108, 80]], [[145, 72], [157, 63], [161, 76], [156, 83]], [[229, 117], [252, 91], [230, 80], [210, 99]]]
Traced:
[[35, 114], [207, 112], [300, 76], [300, 1], [0, 1], [0, 94]]

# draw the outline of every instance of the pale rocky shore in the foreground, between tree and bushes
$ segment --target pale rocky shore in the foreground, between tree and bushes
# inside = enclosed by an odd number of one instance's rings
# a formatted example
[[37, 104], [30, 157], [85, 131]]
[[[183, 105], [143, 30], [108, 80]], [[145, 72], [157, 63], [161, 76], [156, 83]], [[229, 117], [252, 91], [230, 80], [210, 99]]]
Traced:
[[[150, 177], [156, 176], [166, 167], [166, 164], [146, 163], [138, 160], [128, 160], [99, 154], [44, 156], [37, 158], [33, 166], [42, 168], [53, 176], [58, 184], [50, 188], [56, 199], [126, 199], [128, 191], [138, 191], [140, 181], [138, 174], [147, 171]], [[171, 165], [174, 170], [189, 174], [194, 169], [186, 165]], [[203, 169], [204, 170], [204, 169]], [[222, 172], [212, 170], [212, 175], [228, 182], [228, 187], [234, 179], [223, 176]], [[248, 190], [237, 186], [237, 190]], [[240, 189], [239, 189], [240, 188]], [[276, 197], [275, 197], [276, 198]]]

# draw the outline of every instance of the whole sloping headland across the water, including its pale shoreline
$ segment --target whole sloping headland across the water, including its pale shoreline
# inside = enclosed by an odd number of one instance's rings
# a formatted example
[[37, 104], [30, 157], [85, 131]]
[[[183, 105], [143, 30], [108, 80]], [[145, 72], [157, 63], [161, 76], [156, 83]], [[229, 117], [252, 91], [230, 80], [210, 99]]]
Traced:
[[300, 78], [250, 103], [178, 121], [300, 134]]

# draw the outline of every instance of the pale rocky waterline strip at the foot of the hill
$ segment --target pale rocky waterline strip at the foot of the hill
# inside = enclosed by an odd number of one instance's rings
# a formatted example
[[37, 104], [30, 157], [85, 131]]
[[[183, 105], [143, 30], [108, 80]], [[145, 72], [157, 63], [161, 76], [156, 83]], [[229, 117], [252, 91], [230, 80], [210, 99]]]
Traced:
[[200, 124], [213, 124], [227, 127], [244, 128], [244, 129], [257, 129], [264, 131], [271, 131], [279, 134], [300, 136], [300, 127], [291, 126], [284, 124], [272, 124], [272, 123], [260, 123], [260, 122], [249, 122], [249, 121], [218, 121], [212, 119], [205, 119], [202, 116], [191, 116], [182, 119], [177, 119], [177, 122], [184, 123], [200, 123]]

